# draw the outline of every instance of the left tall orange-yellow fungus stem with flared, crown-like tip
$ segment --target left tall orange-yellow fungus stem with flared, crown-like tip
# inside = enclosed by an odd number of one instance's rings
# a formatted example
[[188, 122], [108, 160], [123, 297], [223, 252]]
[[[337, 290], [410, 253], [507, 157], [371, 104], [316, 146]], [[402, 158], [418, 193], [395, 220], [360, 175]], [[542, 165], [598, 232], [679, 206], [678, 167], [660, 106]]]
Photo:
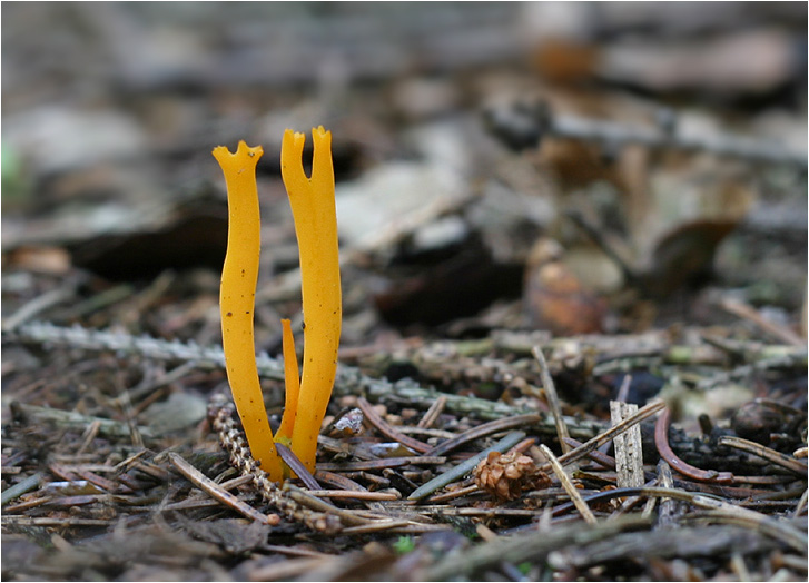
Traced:
[[219, 307], [227, 378], [247, 443], [262, 470], [269, 474], [270, 480], [279, 481], [283, 477], [282, 464], [258, 383], [253, 335], [260, 253], [256, 164], [262, 154], [260, 146], [250, 148], [244, 140], [239, 141], [236, 154], [230, 154], [225, 146], [214, 149], [214, 157], [225, 174], [228, 192], [227, 254], [221, 270]]

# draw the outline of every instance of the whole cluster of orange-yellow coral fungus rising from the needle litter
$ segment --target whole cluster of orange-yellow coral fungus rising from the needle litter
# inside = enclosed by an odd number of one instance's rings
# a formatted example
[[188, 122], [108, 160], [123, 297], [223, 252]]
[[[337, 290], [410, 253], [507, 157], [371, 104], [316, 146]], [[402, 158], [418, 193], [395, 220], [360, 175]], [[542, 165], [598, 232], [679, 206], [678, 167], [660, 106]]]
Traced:
[[286, 407], [275, 438], [258, 383], [253, 334], [260, 253], [256, 164], [263, 150], [260, 146], [249, 148], [244, 141], [236, 154], [224, 146], [214, 149], [214, 157], [225, 172], [229, 209], [219, 298], [228, 382], [250, 453], [276, 482], [290, 473], [282, 464], [276, 441], [289, 445], [304, 467], [315, 472], [317, 435], [334, 386], [343, 317], [332, 134], [320, 126], [312, 135], [315, 141], [312, 178], [303, 168], [304, 135], [286, 130], [282, 142], [282, 177], [298, 238], [306, 324], [300, 378], [292, 327], [288, 319], [282, 320]]

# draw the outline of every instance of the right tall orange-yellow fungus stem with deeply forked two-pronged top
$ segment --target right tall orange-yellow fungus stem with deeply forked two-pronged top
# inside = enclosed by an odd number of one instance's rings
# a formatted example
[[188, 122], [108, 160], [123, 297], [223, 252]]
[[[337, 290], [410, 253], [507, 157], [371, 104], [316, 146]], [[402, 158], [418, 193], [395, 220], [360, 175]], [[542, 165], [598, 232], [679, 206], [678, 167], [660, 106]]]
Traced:
[[343, 315], [334, 200], [332, 132], [312, 130], [315, 152], [312, 177], [304, 172], [303, 134], [286, 130], [280, 148], [280, 172], [289, 195], [298, 238], [305, 318], [304, 369], [292, 449], [315, 472], [317, 435], [326, 415], [337, 372], [337, 345]]

